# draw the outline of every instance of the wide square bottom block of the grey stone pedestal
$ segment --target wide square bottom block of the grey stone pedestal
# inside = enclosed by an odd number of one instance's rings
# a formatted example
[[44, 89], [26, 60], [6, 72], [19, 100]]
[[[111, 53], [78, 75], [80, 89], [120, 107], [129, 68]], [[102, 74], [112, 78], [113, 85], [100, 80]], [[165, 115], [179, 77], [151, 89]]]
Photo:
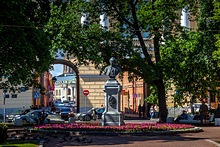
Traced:
[[102, 114], [103, 126], [121, 126], [124, 125], [124, 116], [121, 112], [107, 112]]

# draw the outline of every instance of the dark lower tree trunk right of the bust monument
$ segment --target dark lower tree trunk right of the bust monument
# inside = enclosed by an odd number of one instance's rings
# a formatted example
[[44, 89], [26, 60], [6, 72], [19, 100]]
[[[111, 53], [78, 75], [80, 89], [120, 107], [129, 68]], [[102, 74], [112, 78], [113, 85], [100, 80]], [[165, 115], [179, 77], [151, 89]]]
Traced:
[[168, 110], [166, 106], [166, 97], [165, 97], [165, 86], [163, 80], [159, 79], [154, 81], [154, 84], [157, 86], [158, 90], [158, 102], [159, 102], [159, 122], [166, 122], [168, 115]]

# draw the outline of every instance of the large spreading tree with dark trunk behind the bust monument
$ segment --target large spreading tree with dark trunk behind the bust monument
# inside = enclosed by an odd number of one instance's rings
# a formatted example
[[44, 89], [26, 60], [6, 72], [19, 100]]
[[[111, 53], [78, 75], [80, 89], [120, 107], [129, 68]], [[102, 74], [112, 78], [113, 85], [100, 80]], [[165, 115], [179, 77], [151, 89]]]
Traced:
[[[192, 12], [198, 9], [196, 7], [198, 4], [190, 0], [102, 0], [102, 9], [100, 9], [99, 0], [89, 3], [74, 0], [62, 5], [51, 4], [51, 17], [45, 31], [51, 35], [54, 52], [62, 48], [68, 56], [77, 59], [77, 64], [92, 62], [97, 68], [103, 70], [109, 58], [115, 56], [122, 65], [123, 71], [129, 71], [131, 75], [141, 77], [148, 85], [155, 86], [160, 108], [160, 122], [165, 122], [166, 81], [177, 83], [185, 76], [184, 68], [191, 71], [202, 60], [200, 57], [210, 55], [203, 55], [207, 52], [197, 50], [200, 54], [191, 59], [193, 61], [189, 62], [191, 64], [184, 62], [191, 61], [190, 58], [196, 53], [194, 47], [198, 44], [197, 40], [186, 43], [189, 39], [196, 39], [196, 36], [188, 35], [188, 32], [183, 33], [185, 29], [179, 23], [179, 12], [187, 5], [190, 5]], [[82, 25], [80, 18], [85, 13], [89, 14], [88, 24]], [[100, 14], [109, 16], [109, 31], [100, 27]], [[203, 37], [198, 39], [202, 41]], [[137, 38], [140, 44], [132, 44], [133, 38]], [[153, 46], [146, 46], [145, 39], [151, 40]], [[208, 44], [206, 49], [207, 46]], [[184, 49], [188, 49], [189, 54], [184, 56]], [[208, 59], [206, 61], [209, 62]], [[201, 61], [203, 62], [204, 60]], [[207, 65], [206, 62], [205, 65]], [[207, 69], [208, 66], [204, 68]], [[208, 73], [210, 72], [211, 70]], [[176, 73], [178, 74], [175, 75]], [[205, 73], [200, 75], [195, 71], [195, 75], [186, 74], [193, 79], [198, 76], [201, 79], [201, 77], [209, 77]], [[193, 82], [197, 85], [196, 82], [203, 81]], [[186, 88], [184, 78], [180, 83], [176, 84], [178, 90]], [[190, 85], [193, 84], [190, 83]]]

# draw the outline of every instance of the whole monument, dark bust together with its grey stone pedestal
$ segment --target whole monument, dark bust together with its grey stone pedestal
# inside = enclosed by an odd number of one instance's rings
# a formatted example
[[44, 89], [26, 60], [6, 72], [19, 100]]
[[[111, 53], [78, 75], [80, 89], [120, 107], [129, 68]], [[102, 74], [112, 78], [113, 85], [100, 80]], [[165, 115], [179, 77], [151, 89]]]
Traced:
[[117, 60], [112, 57], [110, 65], [104, 70], [104, 74], [109, 76], [109, 80], [104, 85], [105, 92], [105, 111], [102, 114], [102, 125], [104, 126], [120, 126], [124, 125], [123, 114], [120, 111], [120, 92], [122, 86], [115, 77], [121, 72], [121, 68], [117, 66]]

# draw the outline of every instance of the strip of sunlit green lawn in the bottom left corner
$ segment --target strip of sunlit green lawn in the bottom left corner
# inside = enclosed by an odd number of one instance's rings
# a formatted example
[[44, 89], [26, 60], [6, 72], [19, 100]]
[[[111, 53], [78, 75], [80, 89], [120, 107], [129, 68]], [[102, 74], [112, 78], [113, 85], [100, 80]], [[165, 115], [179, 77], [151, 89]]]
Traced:
[[28, 140], [10, 140], [0, 144], [0, 147], [36, 147], [39, 145], [37, 141]]

